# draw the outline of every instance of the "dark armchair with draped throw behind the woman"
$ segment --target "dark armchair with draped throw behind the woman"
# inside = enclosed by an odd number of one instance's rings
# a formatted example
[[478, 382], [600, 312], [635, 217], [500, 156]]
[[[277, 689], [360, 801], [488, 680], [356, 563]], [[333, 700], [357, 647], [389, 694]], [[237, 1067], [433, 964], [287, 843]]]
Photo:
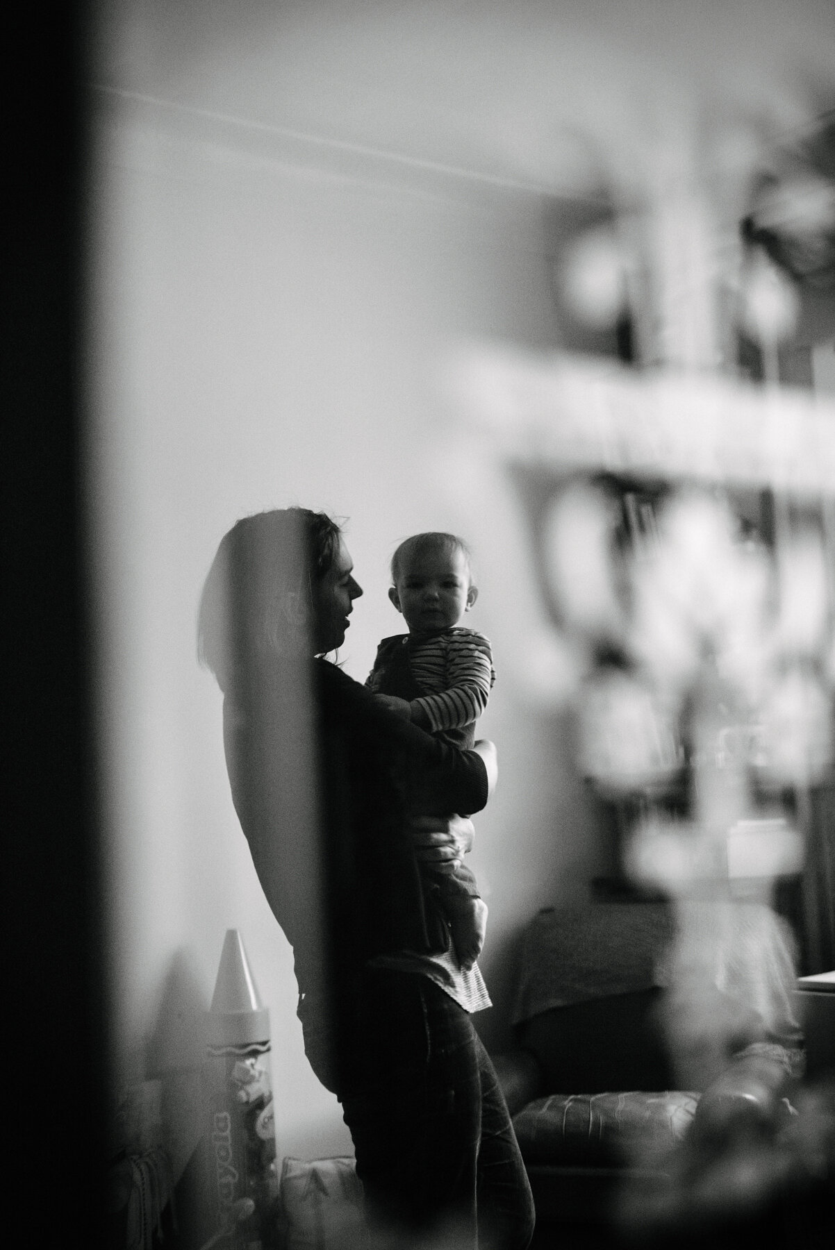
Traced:
[[710, 1045], [694, 1028], [690, 1049], [688, 1030], [676, 1034], [681, 916], [669, 904], [546, 908], [528, 925], [515, 1044], [492, 1058], [534, 1192], [535, 1246], [608, 1246], [650, 1228], [694, 1142], [724, 1149], [730, 1125], [791, 1114], [802, 1038], [790, 935], [759, 904], [705, 906], [695, 932], [708, 935], [699, 1009]]

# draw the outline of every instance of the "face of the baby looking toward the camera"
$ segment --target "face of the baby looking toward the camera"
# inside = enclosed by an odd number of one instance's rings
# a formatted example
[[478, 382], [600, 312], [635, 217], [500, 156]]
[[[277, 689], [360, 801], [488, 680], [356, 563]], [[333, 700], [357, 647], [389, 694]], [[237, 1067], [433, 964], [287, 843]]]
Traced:
[[389, 598], [412, 632], [426, 634], [458, 625], [476, 594], [461, 551], [431, 551], [406, 560]]

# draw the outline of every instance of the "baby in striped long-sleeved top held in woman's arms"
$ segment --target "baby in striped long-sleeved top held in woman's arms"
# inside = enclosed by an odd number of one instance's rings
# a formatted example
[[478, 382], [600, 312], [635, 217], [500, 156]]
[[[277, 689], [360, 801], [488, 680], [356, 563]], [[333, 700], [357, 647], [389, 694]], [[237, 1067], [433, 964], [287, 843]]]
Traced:
[[[459, 621], [479, 594], [470, 552], [454, 534], [415, 534], [391, 558], [389, 599], [408, 634], [385, 638], [366, 686], [428, 732], [469, 749], [495, 680], [490, 642]], [[488, 908], [454, 875], [438, 876], [442, 910], [464, 968], [484, 945]]]

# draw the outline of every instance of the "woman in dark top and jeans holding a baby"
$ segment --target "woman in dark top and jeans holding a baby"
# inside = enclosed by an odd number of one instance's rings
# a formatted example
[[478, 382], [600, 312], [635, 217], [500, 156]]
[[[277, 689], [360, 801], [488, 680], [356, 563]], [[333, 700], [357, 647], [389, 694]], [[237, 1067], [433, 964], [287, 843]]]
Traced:
[[[461, 958], [445, 919], [478, 899], [461, 864], [472, 826], [450, 814], [484, 808], [495, 749], [425, 732], [325, 659], [361, 592], [324, 514], [261, 512], [222, 539], [200, 652], [225, 696], [232, 799], [294, 949], [305, 1051], [342, 1105], [371, 1229], [389, 1245], [524, 1250], [530, 1188], [470, 1019], [489, 1005], [478, 944]], [[294, 819], [311, 796], [312, 844]]]

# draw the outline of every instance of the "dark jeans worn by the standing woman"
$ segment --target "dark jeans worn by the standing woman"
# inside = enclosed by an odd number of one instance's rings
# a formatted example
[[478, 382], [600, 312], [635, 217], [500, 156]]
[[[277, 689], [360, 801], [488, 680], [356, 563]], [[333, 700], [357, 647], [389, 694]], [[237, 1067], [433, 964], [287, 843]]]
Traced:
[[368, 970], [350, 1035], [340, 1101], [385, 1245], [524, 1250], [530, 1185], [468, 1012], [425, 976]]

